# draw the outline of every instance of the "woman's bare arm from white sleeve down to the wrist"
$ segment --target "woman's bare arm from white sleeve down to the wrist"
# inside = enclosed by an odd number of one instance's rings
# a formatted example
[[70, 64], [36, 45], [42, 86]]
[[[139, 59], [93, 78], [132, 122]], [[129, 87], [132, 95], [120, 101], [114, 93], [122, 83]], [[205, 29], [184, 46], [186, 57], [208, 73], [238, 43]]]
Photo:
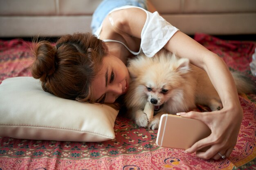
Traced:
[[233, 107], [233, 104], [240, 103], [234, 79], [225, 62], [217, 54], [180, 31], [173, 35], [165, 48], [180, 57], [188, 58], [192, 64], [205, 70], [220, 95], [223, 106]]

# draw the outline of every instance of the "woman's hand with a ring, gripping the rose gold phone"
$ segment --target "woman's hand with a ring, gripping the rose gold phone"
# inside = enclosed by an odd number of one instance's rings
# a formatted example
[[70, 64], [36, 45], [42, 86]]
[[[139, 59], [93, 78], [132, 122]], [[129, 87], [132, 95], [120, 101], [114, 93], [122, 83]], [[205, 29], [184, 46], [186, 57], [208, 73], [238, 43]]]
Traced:
[[[240, 125], [243, 119], [243, 109], [240, 105], [220, 111], [180, 113], [185, 118], [201, 120], [211, 129], [211, 135], [196, 142], [185, 150], [186, 153], [196, 152], [202, 159], [220, 159], [220, 154], [229, 157], [236, 146]], [[198, 151], [210, 146], [205, 152]], [[220, 154], [218, 154], [220, 153]]]

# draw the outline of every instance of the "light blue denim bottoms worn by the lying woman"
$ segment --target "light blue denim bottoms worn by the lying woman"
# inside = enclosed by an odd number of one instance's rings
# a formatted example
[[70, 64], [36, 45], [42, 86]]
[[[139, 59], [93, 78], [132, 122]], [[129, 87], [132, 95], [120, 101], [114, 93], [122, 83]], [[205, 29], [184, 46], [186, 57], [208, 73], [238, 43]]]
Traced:
[[92, 33], [94, 34], [97, 31], [110, 11], [126, 5], [141, 7], [147, 10], [146, 0], [103, 0], [92, 15]]

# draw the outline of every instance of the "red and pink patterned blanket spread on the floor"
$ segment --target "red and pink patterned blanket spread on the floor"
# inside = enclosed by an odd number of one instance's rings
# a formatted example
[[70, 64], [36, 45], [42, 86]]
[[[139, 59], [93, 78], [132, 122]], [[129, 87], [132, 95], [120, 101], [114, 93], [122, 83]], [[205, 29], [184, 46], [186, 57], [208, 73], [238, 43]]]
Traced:
[[[204, 34], [196, 34], [194, 38], [222, 57], [230, 70], [243, 72], [256, 81], [249, 71], [256, 44], [224, 41]], [[31, 76], [30, 44], [19, 39], [0, 40], [0, 83], [8, 77]], [[240, 96], [240, 103], [244, 111], [242, 126], [237, 145], [226, 159], [203, 160], [179, 149], [158, 147], [155, 144], [157, 130], [139, 128], [131, 120], [117, 116], [114, 127], [116, 138], [105, 142], [0, 137], [0, 170], [256, 169], [256, 94]]]

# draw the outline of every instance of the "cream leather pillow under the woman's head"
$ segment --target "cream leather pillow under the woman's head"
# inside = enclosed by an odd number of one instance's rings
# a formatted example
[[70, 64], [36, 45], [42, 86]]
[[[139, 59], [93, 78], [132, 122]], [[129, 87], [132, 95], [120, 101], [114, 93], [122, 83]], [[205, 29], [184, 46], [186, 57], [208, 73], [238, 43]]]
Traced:
[[19, 139], [100, 142], [115, 138], [118, 111], [43, 91], [32, 77], [13, 77], [0, 85], [0, 136]]

